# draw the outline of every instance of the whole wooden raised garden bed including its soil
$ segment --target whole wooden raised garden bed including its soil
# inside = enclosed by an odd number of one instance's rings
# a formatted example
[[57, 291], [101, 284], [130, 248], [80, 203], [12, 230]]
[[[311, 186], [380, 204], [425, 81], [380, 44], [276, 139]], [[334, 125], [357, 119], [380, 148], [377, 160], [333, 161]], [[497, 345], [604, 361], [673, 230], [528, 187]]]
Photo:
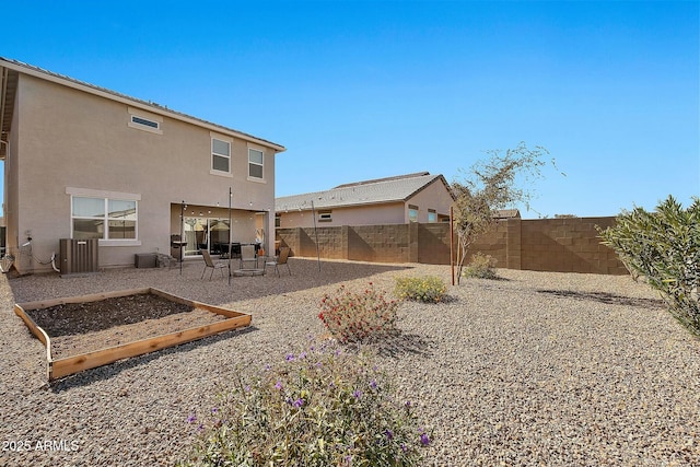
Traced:
[[[138, 301], [149, 303], [135, 312]], [[18, 303], [14, 313], [46, 347], [49, 381], [250, 324], [247, 313], [153, 288]], [[140, 338], [149, 329], [170, 331]]]

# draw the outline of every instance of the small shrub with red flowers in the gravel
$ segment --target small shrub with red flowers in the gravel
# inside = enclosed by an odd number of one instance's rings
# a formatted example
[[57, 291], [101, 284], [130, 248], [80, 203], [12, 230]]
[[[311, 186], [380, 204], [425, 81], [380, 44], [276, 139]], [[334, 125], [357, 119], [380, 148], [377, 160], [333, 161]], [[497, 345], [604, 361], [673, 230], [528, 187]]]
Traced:
[[320, 301], [318, 318], [340, 342], [363, 342], [396, 332], [398, 302], [388, 301], [372, 282], [362, 291], [345, 285]]

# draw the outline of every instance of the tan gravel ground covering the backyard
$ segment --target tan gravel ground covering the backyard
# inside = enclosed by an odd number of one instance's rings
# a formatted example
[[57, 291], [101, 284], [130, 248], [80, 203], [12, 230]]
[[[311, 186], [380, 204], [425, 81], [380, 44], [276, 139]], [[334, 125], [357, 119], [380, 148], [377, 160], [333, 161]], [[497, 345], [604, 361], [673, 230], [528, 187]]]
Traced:
[[[320, 336], [339, 283], [450, 268], [290, 259], [292, 277], [200, 280], [203, 266], [91, 277], [0, 277], [2, 466], [173, 465], [236, 364], [265, 366]], [[499, 270], [445, 303], [405, 303], [380, 357], [435, 439], [436, 466], [700, 466], [700, 340], [629, 277]], [[253, 325], [48, 385], [15, 302], [155, 287], [253, 314]], [[247, 369], [247, 370], [246, 370]], [[28, 447], [28, 451], [26, 448]], [[19, 451], [22, 448], [22, 451]]]

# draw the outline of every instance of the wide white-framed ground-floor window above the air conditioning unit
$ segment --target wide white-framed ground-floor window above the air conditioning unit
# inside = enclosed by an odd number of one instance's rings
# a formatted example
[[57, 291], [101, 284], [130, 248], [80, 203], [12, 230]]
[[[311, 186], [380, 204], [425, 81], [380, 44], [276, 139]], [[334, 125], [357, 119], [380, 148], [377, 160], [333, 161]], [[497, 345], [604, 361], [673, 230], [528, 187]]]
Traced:
[[72, 238], [136, 240], [137, 201], [72, 196]]

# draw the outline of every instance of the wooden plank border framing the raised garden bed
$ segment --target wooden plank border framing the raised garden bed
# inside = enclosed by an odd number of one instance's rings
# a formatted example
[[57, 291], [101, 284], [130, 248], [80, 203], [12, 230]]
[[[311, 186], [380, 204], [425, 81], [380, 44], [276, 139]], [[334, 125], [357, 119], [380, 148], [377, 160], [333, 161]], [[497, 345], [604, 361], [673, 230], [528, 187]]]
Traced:
[[[26, 314], [27, 311], [48, 308], [50, 306], [61, 305], [66, 303], [84, 303], [95, 302], [100, 300], [148, 294], [152, 293], [171, 302], [182, 303], [192, 308], [206, 310], [210, 313], [223, 315], [226, 319], [213, 323], [206, 326], [197, 326], [180, 331], [165, 334], [148, 339], [137, 340], [133, 342], [127, 342], [120, 346], [109, 347], [106, 349], [95, 350], [93, 352], [82, 353], [79, 355], [67, 357], [63, 359], [54, 360], [51, 357], [51, 340], [44, 329]], [[22, 320], [30, 328], [32, 334], [39, 339], [44, 346], [46, 346], [46, 360], [48, 362], [48, 380], [52, 381], [59, 377], [68, 376], [83, 370], [90, 370], [97, 366], [114, 363], [117, 360], [128, 359], [131, 357], [142, 355], [144, 353], [154, 352], [156, 350], [166, 349], [168, 347], [179, 346], [180, 343], [190, 342], [192, 340], [201, 339], [212, 336], [214, 334], [224, 332], [228, 330], [236, 329], [250, 325], [252, 316], [247, 313], [234, 312], [232, 310], [222, 308], [214, 305], [208, 305], [206, 303], [195, 302], [184, 299], [182, 296], [173, 295], [159, 289], [132, 289], [118, 292], [106, 292], [92, 295], [71, 296], [62, 299], [54, 299], [48, 301], [37, 301], [27, 303], [18, 303], [14, 305], [14, 313], [22, 318]]]

